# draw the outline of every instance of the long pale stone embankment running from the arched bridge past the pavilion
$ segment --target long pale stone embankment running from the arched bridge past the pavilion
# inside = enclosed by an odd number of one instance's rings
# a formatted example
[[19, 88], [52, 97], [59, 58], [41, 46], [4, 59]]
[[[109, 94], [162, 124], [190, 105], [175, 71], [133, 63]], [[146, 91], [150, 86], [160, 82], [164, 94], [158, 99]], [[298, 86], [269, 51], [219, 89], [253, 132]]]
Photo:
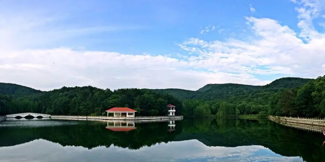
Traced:
[[137, 116], [137, 117], [111, 117], [111, 116], [57, 116], [52, 115], [51, 119], [69, 120], [180, 120], [183, 116]]

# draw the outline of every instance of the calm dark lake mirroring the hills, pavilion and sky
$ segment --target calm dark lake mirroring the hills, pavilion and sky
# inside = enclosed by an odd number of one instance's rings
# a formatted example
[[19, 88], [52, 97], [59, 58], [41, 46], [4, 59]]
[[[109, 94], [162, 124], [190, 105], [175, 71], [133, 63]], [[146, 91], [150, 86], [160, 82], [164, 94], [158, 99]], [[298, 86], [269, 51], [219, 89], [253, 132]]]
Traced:
[[268, 120], [0, 123], [0, 161], [325, 161], [325, 136]]

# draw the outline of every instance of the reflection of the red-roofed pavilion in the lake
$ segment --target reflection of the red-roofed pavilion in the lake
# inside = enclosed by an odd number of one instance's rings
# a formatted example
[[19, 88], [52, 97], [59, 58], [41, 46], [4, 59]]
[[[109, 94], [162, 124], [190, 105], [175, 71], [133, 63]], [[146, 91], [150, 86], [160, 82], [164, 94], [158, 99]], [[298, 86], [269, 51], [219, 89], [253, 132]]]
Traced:
[[134, 121], [108, 121], [105, 127], [115, 132], [127, 132], [136, 129]]

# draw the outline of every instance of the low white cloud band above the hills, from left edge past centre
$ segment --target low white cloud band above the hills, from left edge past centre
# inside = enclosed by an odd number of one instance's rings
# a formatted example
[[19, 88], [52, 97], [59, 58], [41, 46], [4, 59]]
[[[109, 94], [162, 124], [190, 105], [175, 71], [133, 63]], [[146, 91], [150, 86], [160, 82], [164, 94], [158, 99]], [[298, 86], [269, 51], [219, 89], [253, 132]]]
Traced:
[[[67, 48], [7, 52], [0, 66], [2, 82], [50, 90], [65, 86], [101, 88], [198, 89], [213, 82], [262, 84], [253, 76], [194, 70], [200, 62], [168, 56], [125, 55], [116, 52], [74, 51]], [[190, 70], [192, 69], [192, 70]], [[169, 78], [166, 81], [166, 78]]]

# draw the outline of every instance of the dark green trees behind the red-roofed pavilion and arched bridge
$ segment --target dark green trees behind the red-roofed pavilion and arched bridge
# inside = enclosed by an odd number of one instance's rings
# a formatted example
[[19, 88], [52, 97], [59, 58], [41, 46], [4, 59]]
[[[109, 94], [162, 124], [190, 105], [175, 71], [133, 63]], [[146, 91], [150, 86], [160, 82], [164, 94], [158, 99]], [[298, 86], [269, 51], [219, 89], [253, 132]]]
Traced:
[[0, 115], [35, 112], [51, 115], [105, 115], [113, 107], [128, 107], [137, 116], [167, 115], [168, 104], [182, 114], [181, 101], [169, 94], [158, 94], [147, 89], [100, 89], [91, 86], [62, 87], [48, 92], [15, 98], [0, 95]]

